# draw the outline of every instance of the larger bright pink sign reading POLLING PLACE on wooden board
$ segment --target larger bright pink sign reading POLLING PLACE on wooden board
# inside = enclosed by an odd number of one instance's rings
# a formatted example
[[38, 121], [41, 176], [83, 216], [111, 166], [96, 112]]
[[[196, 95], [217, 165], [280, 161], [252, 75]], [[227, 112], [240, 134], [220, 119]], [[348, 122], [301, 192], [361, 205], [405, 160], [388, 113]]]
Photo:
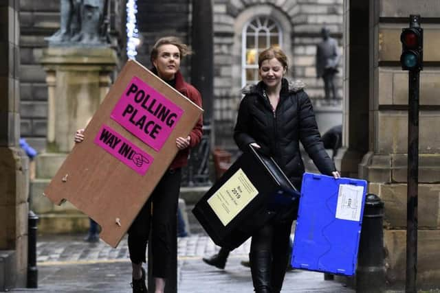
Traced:
[[134, 77], [111, 112], [111, 118], [159, 151], [183, 113], [164, 95]]

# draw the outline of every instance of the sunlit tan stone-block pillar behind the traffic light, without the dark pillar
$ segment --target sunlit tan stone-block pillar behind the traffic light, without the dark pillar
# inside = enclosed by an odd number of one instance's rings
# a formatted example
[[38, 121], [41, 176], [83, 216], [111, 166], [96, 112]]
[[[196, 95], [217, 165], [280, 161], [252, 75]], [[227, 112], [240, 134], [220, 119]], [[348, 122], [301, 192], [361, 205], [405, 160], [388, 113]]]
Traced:
[[[437, 0], [374, 0], [370, 18], [370, 143], [360, 164], [369, 192], [384, 201], [386, 279], [397, 288], [406, 276], [408, 71], [402, 71], [400, 34], [410, 14], [422, 16], [420, 77], [417, 289], [440, 284], [440, 7]], [[429, 21], [428, 19], [432, 19]], [[353, 61], [353, 60], [351, 60]]]

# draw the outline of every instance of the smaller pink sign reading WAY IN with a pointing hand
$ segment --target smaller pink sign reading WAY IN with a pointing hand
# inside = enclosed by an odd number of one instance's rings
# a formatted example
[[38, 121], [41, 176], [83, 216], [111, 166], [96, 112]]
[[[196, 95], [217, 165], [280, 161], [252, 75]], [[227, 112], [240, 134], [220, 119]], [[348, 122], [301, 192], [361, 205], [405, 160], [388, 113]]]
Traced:
[[142, 176], [145, 175], [151, 163], [153, 163], [152, 156], [137, 148], [128, 139], [122, 137], [121, 134], [107, 125], [102, 126], [94, 142]]

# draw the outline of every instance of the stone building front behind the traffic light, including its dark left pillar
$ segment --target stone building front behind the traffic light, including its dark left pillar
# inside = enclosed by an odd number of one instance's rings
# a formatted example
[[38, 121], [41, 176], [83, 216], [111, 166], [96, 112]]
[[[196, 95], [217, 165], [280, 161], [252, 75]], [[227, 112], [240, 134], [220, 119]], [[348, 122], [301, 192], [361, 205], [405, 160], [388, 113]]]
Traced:
[[[420, 77], [417, 289], [439, 288], [439, 99], [436, 0], [344, 1], [344, 176], [364, 178], [384, 202], [388, 288], [406, 283], [408, 71], [400, 34], [410, 14], [421, 16], [424, 67]], [[418, 205], [418, 207], [417, 207]], [[414, 242], [410, 242], [414, 243]], [[412, 268], [410, 268], [412, 270]]]

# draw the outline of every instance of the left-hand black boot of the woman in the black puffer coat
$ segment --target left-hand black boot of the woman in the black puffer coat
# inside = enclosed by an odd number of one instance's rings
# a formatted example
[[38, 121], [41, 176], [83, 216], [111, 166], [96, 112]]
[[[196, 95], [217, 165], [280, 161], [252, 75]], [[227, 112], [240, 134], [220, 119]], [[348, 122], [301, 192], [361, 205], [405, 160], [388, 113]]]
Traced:
[[256, 250], [249, 254], [252, 283], [256, 293], [272, 293], [270, 268], [272, 254], [268, 250]]

